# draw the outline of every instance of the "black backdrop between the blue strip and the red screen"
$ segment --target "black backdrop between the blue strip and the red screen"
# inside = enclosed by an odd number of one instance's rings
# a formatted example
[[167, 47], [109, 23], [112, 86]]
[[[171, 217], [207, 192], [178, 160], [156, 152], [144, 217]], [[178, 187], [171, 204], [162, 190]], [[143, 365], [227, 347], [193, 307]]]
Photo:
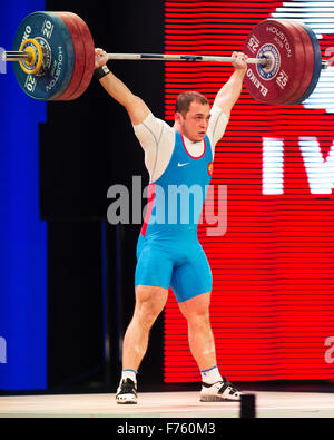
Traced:
[[[164, 52], [164, 1], [47, 1], [71, 11], [107, 52]], [[109, 68], [164, 118], [164, 66], [110, 61]], [[140, 225], [106, 222], [109, 186], [132, 176], [148, 184], [144, 151], [126, 110], [92, 80], [75, 101], [48, 102], [40, 126], [40, 213], [48, 222], [48, 387], [65, 392], [115, 388], [120, 342], [134, 311]], [[130, 193], [131, 194], [131, 193]], [[163, 383], [163, 315], [155, 324], [140, 383]]]

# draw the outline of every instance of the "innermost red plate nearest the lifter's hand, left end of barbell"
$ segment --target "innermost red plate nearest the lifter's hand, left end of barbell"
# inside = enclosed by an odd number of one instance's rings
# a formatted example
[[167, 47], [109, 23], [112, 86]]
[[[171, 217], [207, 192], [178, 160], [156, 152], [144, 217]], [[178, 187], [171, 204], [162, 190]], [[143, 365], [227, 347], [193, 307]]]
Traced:
[[86, 65], [85, 65], [82, 80], [80, 82], [78, 90], [76, 90], [68, 98], [68, 100], [73, 100], [73, 99], [79, 98], [87, 90], [87, 88], [91, 81], [92, 74], [95, 70], [95, 43], [94, 43], [94, 39], [90, 33], [90, 30], [89, 30], [88, 26], [85, 23], [85, 21], [76, 13], [67, 12], [67, 14], [72, 18], [72, 20], [77, 25], [77, 28], [81, 32], [81, 38], [82, 38], [82, 41], [85, 45], [85, 53], [86, 53]]

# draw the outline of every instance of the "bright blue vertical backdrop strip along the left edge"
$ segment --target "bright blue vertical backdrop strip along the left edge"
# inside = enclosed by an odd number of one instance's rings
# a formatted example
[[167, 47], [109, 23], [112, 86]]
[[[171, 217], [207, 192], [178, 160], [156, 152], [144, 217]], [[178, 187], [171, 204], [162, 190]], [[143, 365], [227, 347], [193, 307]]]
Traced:
[[[11, 50], [19, 23], [45, 1], [1, 6], [0, 46]], [[7, 70], [7, 72], [4, 72]], [[39, 213], [39, 124], [46, 102], [0, 69], [0, 390], [47, 389], [47, 224]]]

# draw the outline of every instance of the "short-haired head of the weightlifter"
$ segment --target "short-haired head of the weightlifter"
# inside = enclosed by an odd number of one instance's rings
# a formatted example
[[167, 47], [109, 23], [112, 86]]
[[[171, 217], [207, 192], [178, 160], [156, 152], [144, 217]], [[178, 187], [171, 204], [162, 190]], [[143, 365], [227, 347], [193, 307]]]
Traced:
[[186, 91], [177, 97], [175, 128], [194, 143], [203, 140], [210, 118], [207, 98], [197, 91]]

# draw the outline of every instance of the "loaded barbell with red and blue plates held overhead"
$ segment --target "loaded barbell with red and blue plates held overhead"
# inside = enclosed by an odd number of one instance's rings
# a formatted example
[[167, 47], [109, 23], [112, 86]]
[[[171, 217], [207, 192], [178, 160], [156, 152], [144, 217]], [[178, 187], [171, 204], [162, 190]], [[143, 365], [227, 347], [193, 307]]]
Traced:
[[[302, 104], [315, 89], [321, 47], [313, 30], [299, 21], [268, 19], [249, 32], [243, 48], [248, 56], [244, 84], [259, 102]], [[200, 55], [108, 53], [109, 60], [233, 62], [233, 57]], [[95, 70], [95, 43], [85, 21], [72, 12], [33, 12], [20, 23], [12, 51], [22, 90], [37, 100], [73, 100], [88, 88]]]

